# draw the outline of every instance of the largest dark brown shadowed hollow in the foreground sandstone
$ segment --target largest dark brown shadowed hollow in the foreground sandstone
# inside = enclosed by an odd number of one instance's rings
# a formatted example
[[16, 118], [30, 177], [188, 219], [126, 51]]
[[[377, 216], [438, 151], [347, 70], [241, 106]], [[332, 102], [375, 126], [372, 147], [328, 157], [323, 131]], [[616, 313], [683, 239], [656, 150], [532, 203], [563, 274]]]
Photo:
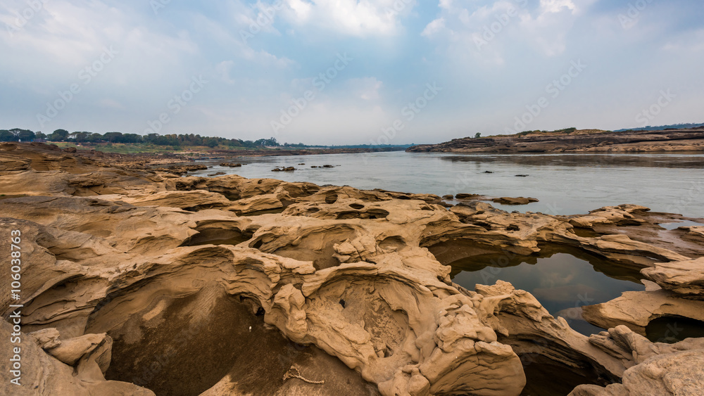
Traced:
[[[122, 298], [129, 306], [139, 297]], [[227, 394], [378, 394], [339, 359], [291, 343], [264, 324], [263, 309], [253, 300], [227, 295], [219, 285], [187, 297], [162, 295], [132, 314], [112, 311], [94, 312], [87, 328], [113, 337], [106, 378], [142, 385], [156, 395], [199, 395], [216, 384], [217, 392]], [[297, 378], [284, 382], [291, 366], [304, 378], [325, 384]]]

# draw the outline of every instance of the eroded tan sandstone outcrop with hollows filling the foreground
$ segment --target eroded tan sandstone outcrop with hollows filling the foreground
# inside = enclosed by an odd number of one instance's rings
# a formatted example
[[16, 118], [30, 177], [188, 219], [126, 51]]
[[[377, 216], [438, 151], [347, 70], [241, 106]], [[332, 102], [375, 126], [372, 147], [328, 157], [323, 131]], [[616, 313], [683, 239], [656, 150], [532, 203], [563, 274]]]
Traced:
[[[579, 395], [702, 374], [677, 363], [699, 359], [702, 339], [639, 335], [658, 315], [698, 319], [684, 307], [700, 302], [689, 269], [704, 245], [689, 231], [658, 238], [657, 224], [679, 215], [448, 210], [431, 194], [177, 177], [45, 145], [0, 150], [0, 234], [20, 230], [23, 252], [21, 300], [0, 302], [23, 305], [24, 385], [3, 366], [3, 394], [519, 395], [527, 357], [592, 374]], [[643, 268], [667, 290], [636, 293], [665, 293], [672, 309], [634, 321], [584, 307], [610, 328], [587, 337], [510, 283], [467, 290], [445, 265], [546, 246]], [[2, 324], [2, 337], [12, 331]], [[662, 367], [672, 372], [644, 377]]]

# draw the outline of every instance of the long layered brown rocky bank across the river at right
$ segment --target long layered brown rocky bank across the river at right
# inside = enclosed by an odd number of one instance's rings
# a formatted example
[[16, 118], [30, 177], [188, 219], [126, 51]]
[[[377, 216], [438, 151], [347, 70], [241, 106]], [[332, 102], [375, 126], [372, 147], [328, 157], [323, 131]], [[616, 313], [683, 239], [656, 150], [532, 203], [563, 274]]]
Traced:
[[411, 153], [643, 153], [704, 151], [704, 128], [664, 131], [529, 132], [413, 146]]

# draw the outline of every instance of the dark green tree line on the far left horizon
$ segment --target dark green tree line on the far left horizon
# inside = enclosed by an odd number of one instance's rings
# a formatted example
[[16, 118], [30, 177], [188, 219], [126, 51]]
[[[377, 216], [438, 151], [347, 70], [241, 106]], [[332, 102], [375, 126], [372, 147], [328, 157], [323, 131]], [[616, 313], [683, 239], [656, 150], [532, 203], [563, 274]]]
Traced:
[[107, 132], [96, 134], [92, 132], [68, 132], [65, 129], [56, 129], [51, 134], [33, 132], [29, 129], [0, 129], [0, 141], [66, 141], [72, 143], [149, 143], [155, 146], [217, 146], [227, 147], [308, 147], [303, 143], [284, 143], [276, 138], [259, 139], [256, 141], [241, 139], [226, 139], [222, 137], [201, 136], [199, 134], [123, 134], [122, 132]]

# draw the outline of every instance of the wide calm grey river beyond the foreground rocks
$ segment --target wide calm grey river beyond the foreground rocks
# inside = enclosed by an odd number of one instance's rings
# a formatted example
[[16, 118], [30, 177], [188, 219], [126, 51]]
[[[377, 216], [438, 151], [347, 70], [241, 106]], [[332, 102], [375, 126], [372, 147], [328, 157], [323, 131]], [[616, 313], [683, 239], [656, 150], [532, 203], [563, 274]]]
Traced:
[[[206, 162], [213, 167], [194, 175], [226, 172], [249, 178], [439, 196], [530, 196], [540, 202], [495, 206], [551, 215], [574, 215], [607, 205], [634, 203], [658, 212], [704, 217], [704, 153], [461, 155], [398, 151], [227, 159], [233, 160], [246, 165], [230, 168], [218, 166], [220, 161]], [[314, 165], [339, 166], [311, 168]], [[279, 166], [297, 170], [271, 172]], [[529, 176], [516, 177], [517, 174]]]

